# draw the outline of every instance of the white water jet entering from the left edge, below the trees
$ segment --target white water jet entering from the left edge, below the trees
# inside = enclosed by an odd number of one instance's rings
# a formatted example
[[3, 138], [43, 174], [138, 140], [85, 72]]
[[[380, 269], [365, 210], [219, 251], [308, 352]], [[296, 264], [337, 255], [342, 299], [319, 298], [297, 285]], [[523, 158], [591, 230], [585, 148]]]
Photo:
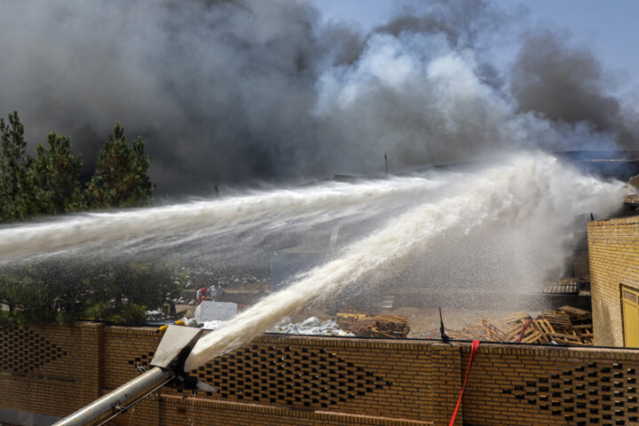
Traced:
[[[89, 213], [0, 230], [0, 259], [9, 261], [78, 250], [122, 247], [143, 239], [185, 233], [174, 244], [204, 235], [237, 232], [242, 226], [278, 224], [299, 217], [345, 214], [394, 197], [414, 197], [441, 182], [422, 177], [363, 181], [356, 185], [327, 183], [305, 188], [262, 191], [183, 204]], [[166, 241], [162, 241], [166, 244]]]

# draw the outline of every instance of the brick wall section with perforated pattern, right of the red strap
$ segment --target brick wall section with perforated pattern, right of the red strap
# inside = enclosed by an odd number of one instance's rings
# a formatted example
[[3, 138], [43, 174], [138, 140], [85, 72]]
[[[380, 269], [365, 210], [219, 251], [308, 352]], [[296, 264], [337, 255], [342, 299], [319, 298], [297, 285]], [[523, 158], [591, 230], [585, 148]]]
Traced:
[[[469, 347], [461, 348], [467, 365]], [[480, 346], [464, 393], [472, 425], [639, 424], [639, 351]]]

